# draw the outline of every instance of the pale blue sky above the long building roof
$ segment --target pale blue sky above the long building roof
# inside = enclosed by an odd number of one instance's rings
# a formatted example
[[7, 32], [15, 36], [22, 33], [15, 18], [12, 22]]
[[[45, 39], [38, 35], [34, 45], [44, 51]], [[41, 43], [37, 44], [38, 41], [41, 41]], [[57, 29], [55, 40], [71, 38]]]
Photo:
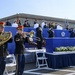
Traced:
[[0, 18], [17, 13], [75, 20], [75, 0], [1, 0]]

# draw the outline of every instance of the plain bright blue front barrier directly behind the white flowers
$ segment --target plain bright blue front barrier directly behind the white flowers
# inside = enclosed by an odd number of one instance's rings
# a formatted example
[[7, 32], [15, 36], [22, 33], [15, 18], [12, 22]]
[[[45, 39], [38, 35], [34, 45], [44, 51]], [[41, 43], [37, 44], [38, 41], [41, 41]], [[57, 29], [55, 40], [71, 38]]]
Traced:
[[53, 53], [56, 47], [75, 46], [75, 38], [46, 38], [46, 52]]

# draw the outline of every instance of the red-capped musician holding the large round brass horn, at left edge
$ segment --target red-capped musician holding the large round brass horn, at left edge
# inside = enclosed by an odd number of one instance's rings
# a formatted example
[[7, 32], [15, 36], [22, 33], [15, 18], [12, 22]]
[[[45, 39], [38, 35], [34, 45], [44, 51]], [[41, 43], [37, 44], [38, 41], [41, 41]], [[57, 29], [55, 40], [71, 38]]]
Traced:
[[[4, 32], [4, 25], [5, 25], [4, 22], [0, 22], [0, 35], [3, 35], [4, 33], [6, 33]], [[1, 39], [0, 39], [0, 42], [1, 42]], [[3, 72], [5, 70], [6, 55], [8, 53], [7, 46], [9, 42], [12, 42], [12, 34], [11, 34], [11, 38], [8, 41], [0, 45], [0, 75], [3, 75]]]

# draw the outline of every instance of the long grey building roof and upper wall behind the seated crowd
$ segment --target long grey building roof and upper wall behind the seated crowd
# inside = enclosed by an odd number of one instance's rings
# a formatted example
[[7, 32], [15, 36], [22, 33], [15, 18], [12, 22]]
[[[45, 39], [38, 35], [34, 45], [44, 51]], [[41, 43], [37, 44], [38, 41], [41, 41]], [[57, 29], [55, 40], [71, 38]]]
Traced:
[[31, 14], [24, 14], [24, 13], [19, 13], [19, 14], [5, 17], [5, 18], [0, 19], [0, 21], [6, 22], [7, 20], [10, 20], [10, 22], [13, 23], [18, 18], [20, 18], [20, 22], [22, 25], [24, 24], [24, 21], [27, 18], [31, 26], [33, 26], [34, 21], [37, 20], [39, 24], [41, 24], [43, 21], [46, 21], [47, 24], [49, 24], [50, 22], [55, 22], [55, 23], [60, 23], [63, 27], [65, 27], [66, 22], [68, 22], [67, 24], [69, 24], [69, 28], [75, 28], [75, 20], [54, 18], [54, 17], [48, 17], [48, 16], [31, 15]]

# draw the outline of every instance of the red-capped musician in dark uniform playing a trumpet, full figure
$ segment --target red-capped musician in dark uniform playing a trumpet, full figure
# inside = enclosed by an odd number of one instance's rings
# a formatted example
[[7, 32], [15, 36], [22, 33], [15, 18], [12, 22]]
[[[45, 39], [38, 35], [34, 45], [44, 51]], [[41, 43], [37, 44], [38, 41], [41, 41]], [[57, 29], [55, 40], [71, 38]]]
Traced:
[[25, 66], [24, 50], [25, 50], [26, 36], [23, 33], [23, 26], [18, 26], [17, 31], [18, 33], [14, 36], [15, 47], [16, 47], [15, 54], [16, 54], [16, 61], [17, 61], [15, 75], [22, 75]]

